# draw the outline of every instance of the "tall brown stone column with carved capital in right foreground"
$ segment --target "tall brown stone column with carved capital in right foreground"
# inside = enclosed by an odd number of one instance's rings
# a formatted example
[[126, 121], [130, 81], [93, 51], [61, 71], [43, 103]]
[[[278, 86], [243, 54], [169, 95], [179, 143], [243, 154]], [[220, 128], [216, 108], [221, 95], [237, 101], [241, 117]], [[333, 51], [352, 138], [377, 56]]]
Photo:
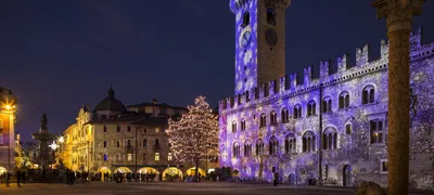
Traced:
[[388, 194], [408, 194], [410, 128], [410, 32], [424, 0], [376, 0], [376, 17], [386, 17], [388, 46]]

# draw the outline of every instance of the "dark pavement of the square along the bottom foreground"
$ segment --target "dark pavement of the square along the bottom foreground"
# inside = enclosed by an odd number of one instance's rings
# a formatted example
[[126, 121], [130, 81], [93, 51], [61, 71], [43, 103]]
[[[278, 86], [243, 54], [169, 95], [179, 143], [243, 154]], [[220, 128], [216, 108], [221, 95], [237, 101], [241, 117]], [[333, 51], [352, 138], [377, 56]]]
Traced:
[[[352, 188], [332, 188], [316, 186], [288, 186], [271, 184], [250, 185], [235, 183], [101, 183], [90, 184], [24, 184], [17, 187], [12, 184], [11, 187], [0, 186], [0, 195], [54, 195], [54, 194], [79, 194], [79, 195], [346, 195], [354, 194]], [[416, 194], [414, 194], [416, 195]]]

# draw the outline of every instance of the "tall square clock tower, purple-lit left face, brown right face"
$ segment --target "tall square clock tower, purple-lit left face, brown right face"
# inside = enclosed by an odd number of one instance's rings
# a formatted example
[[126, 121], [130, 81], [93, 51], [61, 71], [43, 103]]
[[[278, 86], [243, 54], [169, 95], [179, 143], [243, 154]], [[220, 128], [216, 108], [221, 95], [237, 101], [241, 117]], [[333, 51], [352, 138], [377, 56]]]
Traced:
[[285, 10], [291, 0], [230, 0], [235, 14], [235, 94], [285, 75]]

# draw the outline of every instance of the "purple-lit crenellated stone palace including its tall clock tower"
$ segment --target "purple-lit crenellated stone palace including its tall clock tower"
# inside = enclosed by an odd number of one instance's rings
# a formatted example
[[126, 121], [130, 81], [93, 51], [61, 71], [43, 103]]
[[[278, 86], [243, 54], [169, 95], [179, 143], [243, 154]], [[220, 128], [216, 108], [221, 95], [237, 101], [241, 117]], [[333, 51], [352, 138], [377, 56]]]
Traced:
[[[387, 184], [387, 61], [369, 58], [369, 46], [284, 77], [284, 10], [289, 0], [230, 0], [235, 14], [235, 95], [220, 102], [221, 167], [239, 177], [272, 180], [278, 172], [292, 184], [321, 179], [350, 186], [361, 181]], [[250, 32], [246, 32], [250, 31]], [[434, 42], [422, 29], [410, 38], [410, 185], [434, 183]], [[268, 79], [268, 80], [266, 80]]]

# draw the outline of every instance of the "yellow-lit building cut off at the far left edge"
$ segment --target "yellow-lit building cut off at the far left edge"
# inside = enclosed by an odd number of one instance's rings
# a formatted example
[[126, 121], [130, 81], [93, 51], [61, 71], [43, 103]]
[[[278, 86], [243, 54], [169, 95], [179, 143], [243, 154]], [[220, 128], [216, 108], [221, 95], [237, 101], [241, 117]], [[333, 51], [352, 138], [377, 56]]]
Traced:
[[15, 108], [12, 91], [0, 87], [0, 174], [15, 167]]

